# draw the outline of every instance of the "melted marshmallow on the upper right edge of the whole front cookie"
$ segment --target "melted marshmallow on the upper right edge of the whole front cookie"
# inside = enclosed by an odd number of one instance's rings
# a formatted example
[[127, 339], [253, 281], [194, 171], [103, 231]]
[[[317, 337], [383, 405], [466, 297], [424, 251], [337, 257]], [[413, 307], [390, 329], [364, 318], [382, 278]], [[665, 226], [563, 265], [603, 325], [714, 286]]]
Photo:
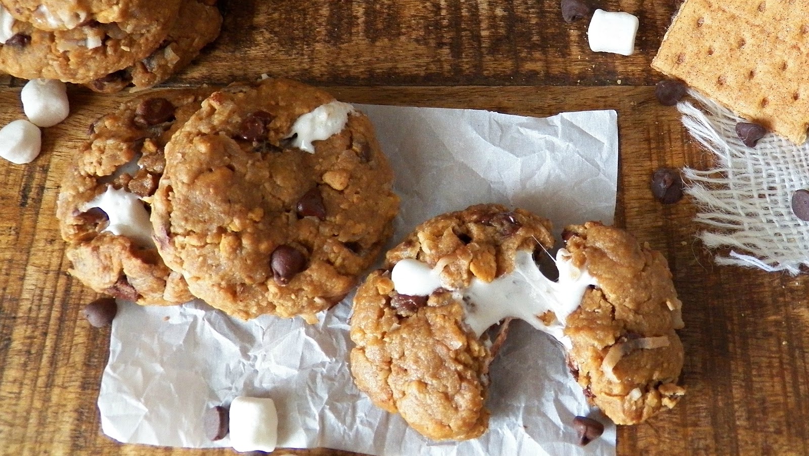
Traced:
[[354, 107], [349, 103], [332, 101], [321, 104], [314, 111], [307, 112], [295, 120], [289, 135], [292, 146], [314, 154], [315, 146], [312, 145], [312, 141], [321, 141], [328, 139], [332, 134], [340, 133], [352, 112]]

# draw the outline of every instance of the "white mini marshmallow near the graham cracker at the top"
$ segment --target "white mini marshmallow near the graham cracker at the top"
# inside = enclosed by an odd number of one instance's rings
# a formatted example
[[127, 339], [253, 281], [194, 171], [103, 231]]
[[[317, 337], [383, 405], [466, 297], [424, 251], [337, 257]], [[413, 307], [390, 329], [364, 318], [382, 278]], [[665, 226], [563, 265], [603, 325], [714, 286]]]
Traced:
[[637, 18], [629, 13], [595, 10], [587, 28], [587, 40], [595, 53], [631, 56], [635, 51]]

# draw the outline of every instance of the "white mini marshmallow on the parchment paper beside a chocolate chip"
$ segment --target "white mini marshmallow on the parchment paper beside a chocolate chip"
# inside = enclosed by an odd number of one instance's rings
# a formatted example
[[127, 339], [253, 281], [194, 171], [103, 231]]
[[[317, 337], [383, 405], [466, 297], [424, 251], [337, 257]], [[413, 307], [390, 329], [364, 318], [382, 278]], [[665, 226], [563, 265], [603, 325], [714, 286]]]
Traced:
[[275, 450], [278, 415], [273, 399], [239, 396], [231, 402], [231, 445], [239, 452]]

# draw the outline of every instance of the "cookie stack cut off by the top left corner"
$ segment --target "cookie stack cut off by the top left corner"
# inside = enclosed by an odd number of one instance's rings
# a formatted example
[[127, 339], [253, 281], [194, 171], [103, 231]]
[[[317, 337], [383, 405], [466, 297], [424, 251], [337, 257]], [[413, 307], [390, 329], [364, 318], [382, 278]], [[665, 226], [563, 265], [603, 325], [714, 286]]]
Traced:
[[0, 0], [0, 70], [114, 92], [152, 87], [219, 34], [215, 0]]

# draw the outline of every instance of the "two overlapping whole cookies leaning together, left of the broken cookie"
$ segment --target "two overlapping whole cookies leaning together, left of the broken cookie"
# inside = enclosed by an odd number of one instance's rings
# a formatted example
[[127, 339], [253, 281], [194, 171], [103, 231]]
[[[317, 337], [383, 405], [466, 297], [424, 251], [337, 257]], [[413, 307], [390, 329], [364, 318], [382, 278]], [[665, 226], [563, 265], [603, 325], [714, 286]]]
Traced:
[[90, 133], [57, 216], [71, 273], [102, 293], [312, 322], [392, 232], [370, 120], [298, 82], [152, 92]]

